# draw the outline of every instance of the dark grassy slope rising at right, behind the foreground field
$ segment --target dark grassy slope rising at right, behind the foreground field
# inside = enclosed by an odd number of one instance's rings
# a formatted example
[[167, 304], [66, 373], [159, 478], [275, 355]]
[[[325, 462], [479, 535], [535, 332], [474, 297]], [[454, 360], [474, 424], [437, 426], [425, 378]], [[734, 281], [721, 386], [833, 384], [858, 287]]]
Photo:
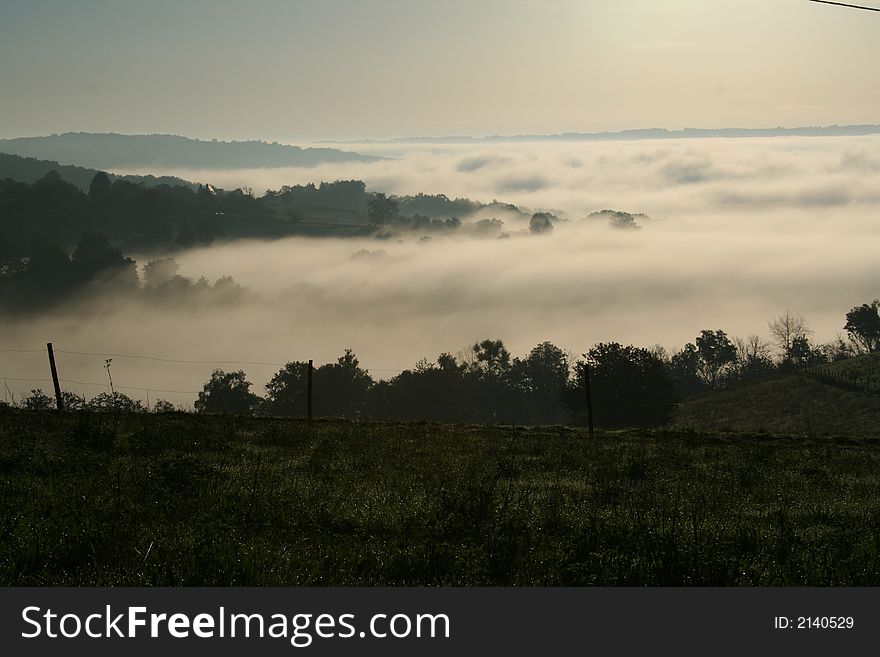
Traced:
[[778, 375], [684, 402], [675, 424], [808, 435], [880, 436], [880, 355]]

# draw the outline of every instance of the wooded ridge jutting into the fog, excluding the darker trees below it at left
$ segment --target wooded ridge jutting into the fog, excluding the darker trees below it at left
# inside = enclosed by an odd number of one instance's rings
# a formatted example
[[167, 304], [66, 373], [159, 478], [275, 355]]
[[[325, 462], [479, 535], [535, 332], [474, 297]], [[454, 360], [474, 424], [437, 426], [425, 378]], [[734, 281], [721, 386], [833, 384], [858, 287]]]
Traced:
[[[169, 252], [219, 239], [445, 233], [469, 229], [462, 218], [493, 207], [529, 217], [514, 206], [443, 194], [386, 196], [359, 180], [285, 186], [256, 197], [247, 188], [147, 186], [98, 172], [84, 192], [53, 170], [33, 183], [0, 180], [0, 264], [29, 258], [39, 244], [69, 250], [83, 234], [103, 235], [125, 250]], [[495, 236], [502, 226], [487, 220], [474, 230]]]

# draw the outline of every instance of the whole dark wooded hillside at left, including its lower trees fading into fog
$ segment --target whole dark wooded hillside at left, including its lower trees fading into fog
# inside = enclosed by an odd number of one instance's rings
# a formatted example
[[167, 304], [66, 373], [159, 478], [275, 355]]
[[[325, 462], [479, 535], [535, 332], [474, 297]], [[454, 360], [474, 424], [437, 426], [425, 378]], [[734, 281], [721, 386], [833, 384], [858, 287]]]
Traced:
[[[49, 307], [87, 288], [130, 294], [139, 287], [134, 262], [123, 255], [131, 250], [169, 254], [218, 240], [291, 235], [508, 237], [501, 219], [464, 223], [456, 216], [490, 208], [514, 213], [523, 221], [528, 218], [497, 201], [485, 205], [442, 194], [388, 196], [368, 192], [357, 180], [285, 186], [256, 198], [248, 190], [224, 191], [210, 185], [146, 186], [100, 171], [87, 191], [54, 170], [33, 183], [7, 178], [0, 181], [0, 306]], [[547, 233], [556, 221], [553, 214], [535, 213], [530, 231]], [[152, 263], [144, 271], [144, 288], [156, 300], [160, 292], [182, 293], [193, 287], [162, 272]], [[218, 295], [224, 298], [235, 289], [228, 278], [215, 286], [224, 291]], [[201, 280], [195, 287], [205, 291], [211, 285]]]

